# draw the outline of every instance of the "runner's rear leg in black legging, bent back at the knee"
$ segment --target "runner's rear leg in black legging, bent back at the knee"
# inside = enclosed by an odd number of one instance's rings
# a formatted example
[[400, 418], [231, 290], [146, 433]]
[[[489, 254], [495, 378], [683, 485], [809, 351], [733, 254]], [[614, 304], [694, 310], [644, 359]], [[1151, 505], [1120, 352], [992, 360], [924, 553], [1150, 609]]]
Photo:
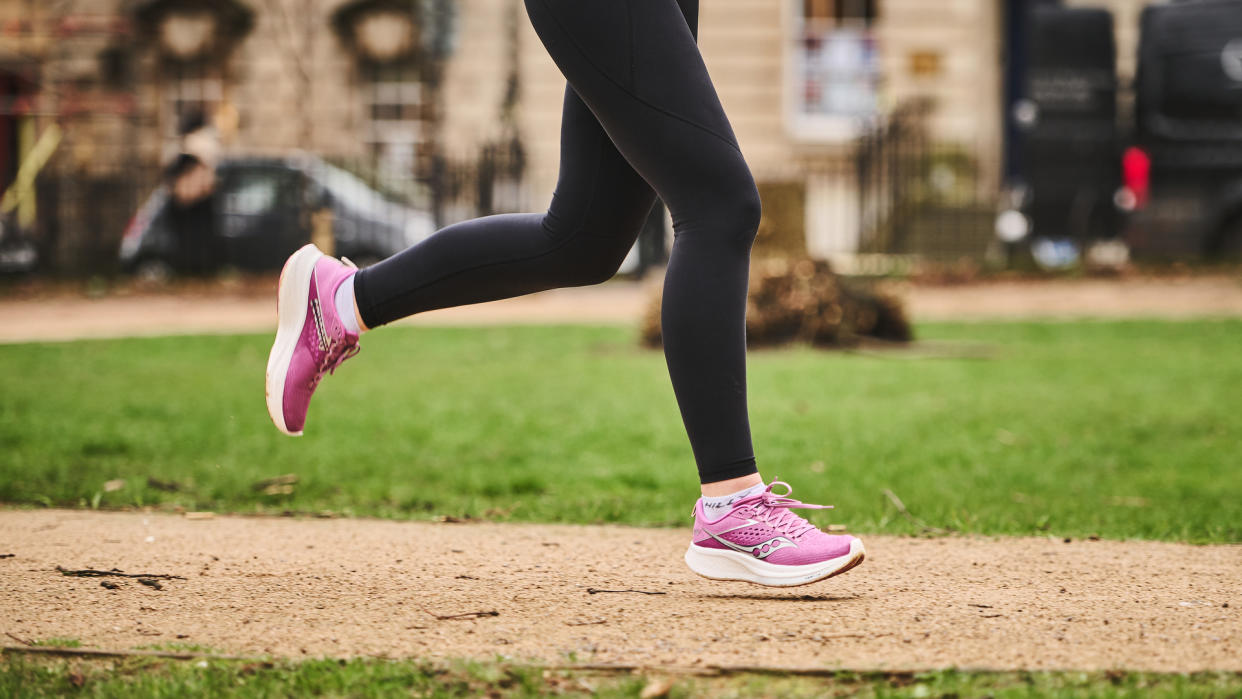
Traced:
[[548, 212], [453, 223], [359, 272], [361, 319], [374, 328], [436, 308], [604, 282], [633, 246], [655, 200], [566, 87], [560, 175]]

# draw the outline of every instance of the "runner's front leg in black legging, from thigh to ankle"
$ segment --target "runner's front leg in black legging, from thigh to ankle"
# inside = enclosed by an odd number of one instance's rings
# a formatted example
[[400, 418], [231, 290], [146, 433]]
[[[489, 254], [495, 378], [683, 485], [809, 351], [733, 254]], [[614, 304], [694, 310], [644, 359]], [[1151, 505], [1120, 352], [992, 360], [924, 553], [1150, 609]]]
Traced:
[[535, 32], [673, 217], [668, 372], [703, 483], [755, 474], [745, 312], [759, 195], [683, 16], [693, 1], [525, 0]]

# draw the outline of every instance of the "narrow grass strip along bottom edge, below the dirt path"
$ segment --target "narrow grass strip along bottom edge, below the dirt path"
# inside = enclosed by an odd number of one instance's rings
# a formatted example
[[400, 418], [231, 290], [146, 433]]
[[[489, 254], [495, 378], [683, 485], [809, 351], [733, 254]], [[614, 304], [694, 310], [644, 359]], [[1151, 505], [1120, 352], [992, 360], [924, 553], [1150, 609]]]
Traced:
[[65, 661], [0, 658], [0, 697], [1236, 697], [1233, 673], [830, 673], [667, 677], [415, 661]]

